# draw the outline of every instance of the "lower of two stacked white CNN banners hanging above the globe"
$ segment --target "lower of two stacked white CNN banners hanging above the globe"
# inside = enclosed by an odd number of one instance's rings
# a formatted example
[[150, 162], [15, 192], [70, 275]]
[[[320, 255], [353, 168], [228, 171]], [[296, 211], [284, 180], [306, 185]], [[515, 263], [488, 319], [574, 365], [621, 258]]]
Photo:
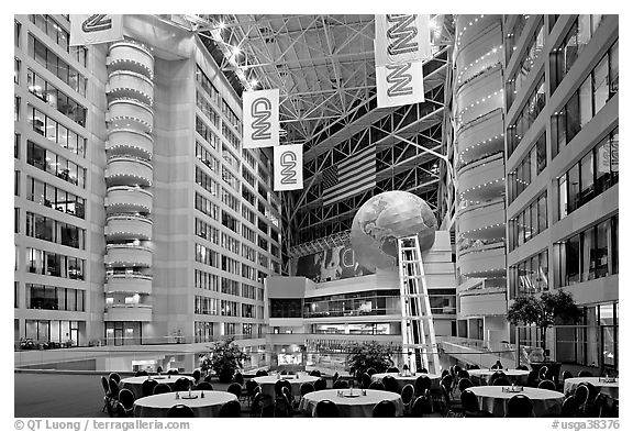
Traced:
[[422, 62], [376, 66], [378, 108], [424, 102]]

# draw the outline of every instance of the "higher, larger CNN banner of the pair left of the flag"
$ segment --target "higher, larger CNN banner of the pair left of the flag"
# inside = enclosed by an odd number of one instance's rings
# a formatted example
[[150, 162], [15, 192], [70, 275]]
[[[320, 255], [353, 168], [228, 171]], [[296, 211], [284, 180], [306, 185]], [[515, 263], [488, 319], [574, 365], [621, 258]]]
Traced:
[[244, 148], [279, 145], [279, 89], [242, 93]]

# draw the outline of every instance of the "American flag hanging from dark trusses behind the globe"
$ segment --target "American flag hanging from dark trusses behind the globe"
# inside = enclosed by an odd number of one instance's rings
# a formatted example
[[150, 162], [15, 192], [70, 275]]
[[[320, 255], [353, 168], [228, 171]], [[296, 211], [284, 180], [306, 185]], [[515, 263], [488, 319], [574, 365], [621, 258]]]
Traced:
[[376, 187], [376, 146], [371, 145], [323, 171], [323, 206]]

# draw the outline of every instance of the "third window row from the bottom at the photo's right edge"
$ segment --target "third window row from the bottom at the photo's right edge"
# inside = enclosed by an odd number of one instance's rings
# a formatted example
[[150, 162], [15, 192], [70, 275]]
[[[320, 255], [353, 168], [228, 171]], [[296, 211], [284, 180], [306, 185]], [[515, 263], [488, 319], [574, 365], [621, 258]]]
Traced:
[[558, 219], [618, 184], [620, 128], [615, 128], [558, 178]]

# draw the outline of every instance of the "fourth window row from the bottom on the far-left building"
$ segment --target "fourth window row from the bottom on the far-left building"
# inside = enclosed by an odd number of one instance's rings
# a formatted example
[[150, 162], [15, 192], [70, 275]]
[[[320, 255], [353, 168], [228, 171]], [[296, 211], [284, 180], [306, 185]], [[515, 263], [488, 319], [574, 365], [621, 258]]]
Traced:
[[86, 248], [86, 230], [26, 212], [26, 235], [79, 250]]

